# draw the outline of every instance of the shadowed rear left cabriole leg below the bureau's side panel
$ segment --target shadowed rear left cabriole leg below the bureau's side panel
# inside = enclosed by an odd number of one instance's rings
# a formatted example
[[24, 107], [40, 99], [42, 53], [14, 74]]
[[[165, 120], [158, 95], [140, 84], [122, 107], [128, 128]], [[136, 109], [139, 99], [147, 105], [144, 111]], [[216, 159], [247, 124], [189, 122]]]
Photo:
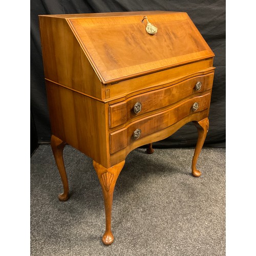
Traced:
[[69, 183], [66, 174], [66, 169], [63, 161], [63, 148], [65, 147], [66, 142], [63, 142], [61, 139], [52, 135], [51, 137], [51, 146], [52, 152], [54, 155], [55, 162], [57, 164], [60, 178], [62, 180], [64, 192], [59, 194], [59, 201], [67, 201], [69, 199]]

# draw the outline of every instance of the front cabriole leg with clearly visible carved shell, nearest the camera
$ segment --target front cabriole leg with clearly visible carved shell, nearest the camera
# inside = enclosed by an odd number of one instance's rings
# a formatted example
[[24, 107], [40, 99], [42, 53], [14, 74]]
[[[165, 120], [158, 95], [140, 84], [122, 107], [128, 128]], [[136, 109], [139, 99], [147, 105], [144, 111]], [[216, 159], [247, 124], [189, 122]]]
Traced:
[[99, 178], [102, 187], [102, 193], [105, 205], [106, 229], [103, 234], [102, 241], [105, 245], [111, 245], [114, 241], [114, 236], [111, 231], [111, 211], [113, 203], [113, 193], [115, 189], [116, 180], [123, 168], [124, 161], [110, 167], [105, 168], [99, 163], [93, 161], [93, 166]]

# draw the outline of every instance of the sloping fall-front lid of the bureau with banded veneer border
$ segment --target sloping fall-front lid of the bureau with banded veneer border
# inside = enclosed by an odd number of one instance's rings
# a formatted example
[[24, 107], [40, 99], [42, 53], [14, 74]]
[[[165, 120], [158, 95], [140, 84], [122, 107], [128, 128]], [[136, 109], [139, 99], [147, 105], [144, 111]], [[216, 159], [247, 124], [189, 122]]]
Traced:
[[103, 83], [214, 56], [186, 13], [147, 14], [155, 36], [145, 31], [143, 16], [67, 19]]

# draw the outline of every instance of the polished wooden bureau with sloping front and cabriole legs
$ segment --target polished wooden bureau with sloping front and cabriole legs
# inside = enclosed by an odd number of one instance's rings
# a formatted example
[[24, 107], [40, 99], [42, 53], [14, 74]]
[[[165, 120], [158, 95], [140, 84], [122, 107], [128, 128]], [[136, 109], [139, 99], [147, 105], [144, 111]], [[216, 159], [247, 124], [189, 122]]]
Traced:
[[134, 148], [165, 139], [193, 121], [198, 142], [208, 131], [213, 58], [184, 12], [39, 15], [51, 120], [51, 145], [69, 197], [66, 144], [93, 159], [104, 197], [104, 244], [111, 244], [116, 180]]

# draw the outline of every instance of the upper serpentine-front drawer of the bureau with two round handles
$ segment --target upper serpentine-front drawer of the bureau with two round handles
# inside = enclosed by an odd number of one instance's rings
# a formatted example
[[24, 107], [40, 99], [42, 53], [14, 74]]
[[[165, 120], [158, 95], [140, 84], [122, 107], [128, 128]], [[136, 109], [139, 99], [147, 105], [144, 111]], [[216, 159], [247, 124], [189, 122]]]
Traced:
[[172, 86], [143, 93], [109, 106], [110, 128], [133, 121], [133, 118], [158, 110], [196, 93], [212, 88], [214, 73], [197, 76]]

